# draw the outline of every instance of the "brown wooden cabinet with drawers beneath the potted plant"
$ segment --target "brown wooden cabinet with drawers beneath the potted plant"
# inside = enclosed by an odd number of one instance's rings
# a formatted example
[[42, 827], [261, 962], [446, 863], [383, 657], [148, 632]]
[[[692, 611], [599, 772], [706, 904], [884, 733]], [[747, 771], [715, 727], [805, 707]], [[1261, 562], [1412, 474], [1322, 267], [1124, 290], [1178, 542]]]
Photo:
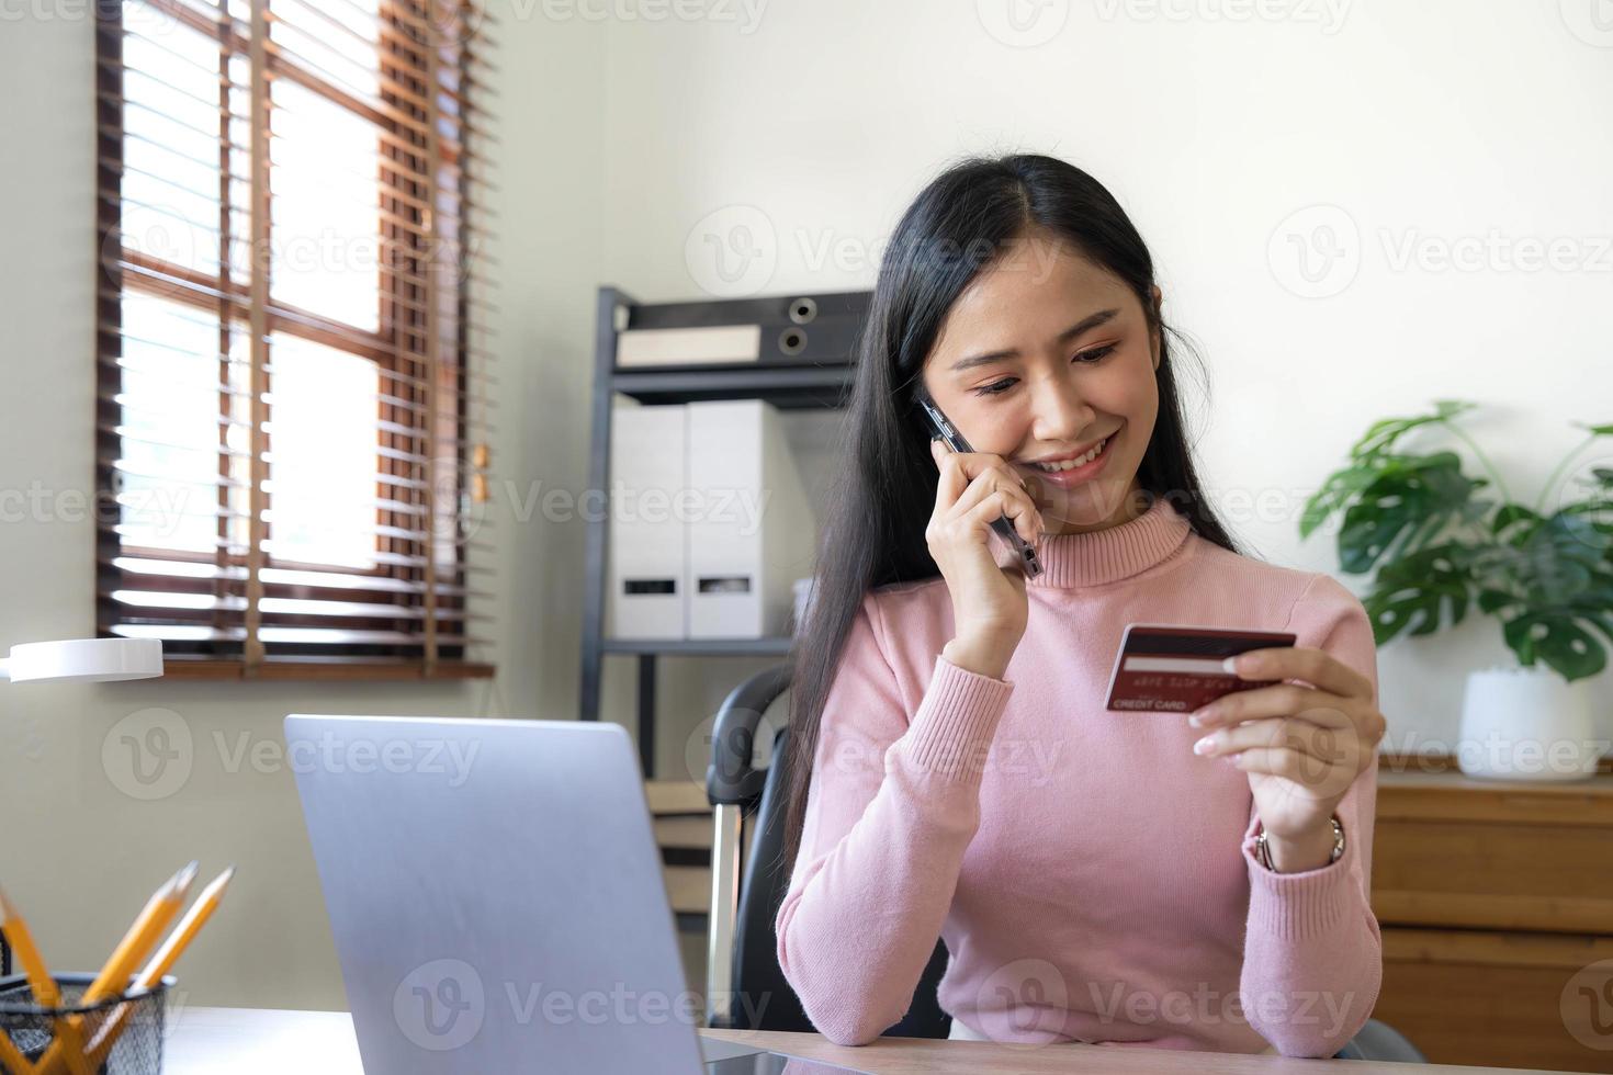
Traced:
[[1613, 1072], [1613, 774], [1379, 769], [1374, 1015], [1437, 1064]]

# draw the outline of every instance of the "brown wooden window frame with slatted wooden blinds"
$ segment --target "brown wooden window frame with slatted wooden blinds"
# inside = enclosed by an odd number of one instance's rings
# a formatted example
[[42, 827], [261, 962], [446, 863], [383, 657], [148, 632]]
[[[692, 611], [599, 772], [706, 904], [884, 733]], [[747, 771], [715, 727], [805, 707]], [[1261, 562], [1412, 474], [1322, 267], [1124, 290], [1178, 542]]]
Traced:
[[[245, 332], [250, 353], [250, 484], [245, 551], [239, 543], [229, 543], [229, 454], [224, 451], [224, 432], [219, 450], [219, 503], [226, 509], [219, 517], [219, 546], [213, 554], [184, 553], [171, 548], [140, 548], [123, 543], [115, 530], [119, 511], [97, 513], [95, 577], [97, 577], [97, 633], [116, 637], [119, 627], [127, 630], [127, 616], [113, 593], [129, 585], [127, 575], [118, 566], [118, 558], [144, 556], [166, 561], [194, 561], [213, 564], [218, 569], [211, 580], [200, 580], [185, 591], [211, 593], [216, 600], [239, 603], [237, 612], [215, 608], [210, 622], [215, 632], [227, 632], [229, 640], [168, 641], [165, 640], [165, 674], [181, 679], [482, 679], [494, 674], [489, 662], [471, 659], [477, 645], [487, 640], [471, 635], [471, 621], [481, 619], [471, 612], [473, 598], [486, 598], [471, 585], [474, 575], [487, 575], [490, 569], [469, 562], [473, 550], [490, 551], [490, 545], [473, 542], [460, 521], [460, 506], [468, 498], [486, 500], [486, 467], [489, 464], [486, 437], [492, 427], [473, 422], [471, 403], [479, 405], [486, 417], [490, 406], [487, 385], [495, 384], [486, 366], [494, 356], [486, 348], [473, 345], [476, 334], [492, 334], [474, 322], [477, 309], [495, 306], [473, 297], [473, 285], [486, 287], [487, 280], [473, 272], [471, 248], [476, 240], [473, 219], [486, 214], [473, 195], [473, 187], [494, 189], [473, 169], [481, 158], [471, 151], [473, 140], [487, 139], [476, 122], [486, 116], [479, 97], [486, 82], [479, 68], [489, 66], [471, 48], [469, 39], [444, 40], [439, 23], [444, 10], [453, 6], [453, 26], [490, 24], [484, 13], [469, 6], [468, 0], [381, 0], [379, 24], [379, 106], [347, 93], [334, 81], [321, 77], [318, 69], [298, 64], [269, 34], [274, 18], [273, 3], [282, 0], [240, 0], [250, 10], [250, 23], [235, 19], [223, 10], [218, 15], [200, 11], [184, 0], [139, 0], [163, 18], [216, 39], [219, 47], [219, 250], [221, 263], [216, 274], [198, 272], [190, 266], [160, 261], [144, 251], [131, 250], [121, 237], [123, 198], [121, 177], [124, 161], [124, 19], [118, 5], [97, 8], [97, 288], [95, 288], [95, 338], [97, 338], [97, 395], [95, 395], [95, 488], [102, 490], [98, 503], [111, 506], [119, 488], [115, 461], [123, 451], [119, 432], [124, 295], [137, 292], [181, 303], [203, 311], [219, 326], [219, 403], [227, 419], [239, 409], [239, 401], [229, 398], [232, 382], [232, 345], [237, 334]], [[318, 0], [315, 0], [318, 2]], [[221, 5], [224, 0], [221, 0]], [[318, 13], [318, 11], [316, 11]], [[474, 15], [473, 18], [468, 18]], [[240, 119], [232, 105], [232, 58], [247, 58], [250, 76], [250, 147], [231, 145], [231, 121]], [[444, 76], [448, 64], [448, 77]], [[318, 93], [350, 113], [368, 119], [377, 132], [377, 172], [390, 172], [390, 179], [377, 176], [379, 243], [384, 251], [384, 269], [377, 266], [379, 330], [369, 332], [323, 314], [289, 306], [269, 293], [269, 153], [268, 124], [271, 116], [271, 81], [286, 79]], [[439, 102], [447, 102], [444, 108]], [[490, 140], [490, 139], [487, 139]], [[242, 176], [239, 160], [247, 150], [250, 174]], [[452, 198], [440, 198], [437, 176], [452, 172]], [[247, 179], [250, 190], [248, 264], [250, 279], [231, 274], [232, 256], [229, 243], [239, 230], [239, 198], [232, 181]], [[232, 219], [234, 218], [234, 219]], [[452, 221], [445, 219], [452, 218]], [[444, 224], [452, 222], [453, 255], [444, 264], [439, 258], [445, 247]], [[444, 280], [447, 271], [447, 280]], [[448, 313], [452, 311], [452, 313]], [[448, 338], [444, 332], [448, 330]], [[344, 353], [368, 358], [376, 364], [379, 379], [390, 387], [377, 392], [377, 482], [376, 482], [376, 551], [390, 554], [374, 571], [332, 567], [329, 564], [297, 564], [274, 561], [265, 550], [269, 524], [265, 511], [271, 508], [265, 482], [269, 464], [265, 458], [269, 448], [266, 424], [271, 421], [269, 392], [271, 361], [269, 338], [284, 334], [315, 343], [339, 348]], [[473, 366], [474, 363], [474, 366]], [[224, 422], [227, 425], [227, 422]], [[482, 440], [476, 440], [482, 438]], [[476, 443], [473, 443], [476, 440]], [[386, 480], [390, 479], [390, 480]], [[448, 503], [452, 500], [452, 504]], [[424, 522], [418, 522], [424, 519]], [[452, 527], [444, 540], [440, 527]], [[418, 530], [413, 530], [419, 527]], [[481, 522], [479, 529], [487, 524]], [[397, 532], [397, 535], [392, 533]], [[405, 532], [413, 530], [405, 537]], [[439, 543], [452, 545], [452, 561], [444, 561]], [[418, 561], [418, 562], [398, 562]], [[360, 621], [353, 633], [363, 633], [363, 624], [373, 624], [376, 633], [410, 635], [402, 643], [323, 643], [300, 645], [266, 641], [263, 638], [263, 601], [271, 587], [265, 582], [266, 569], [337, 572], [345, 577], [374, 577], [377, 587], [403, 588], [384, 601], [384, 616], [353, 616]], [[244, 571], [244, 579], [242, 579]], [[187, 582], [179, 585], [181, 590]], [[416, 591], [408, 591], [418, 587]], [[311, 596], [321, 587], [274, 585], [281, 596]], [[176, 590], [176, 591], [181, 591]], [[368, 593], [368, 591], [366, 591]], [[363, 608], [376, 608], [365, 604]], [[398, 609], [392, 612], [392, 609]], [[419, 632], [398, 630], [397, 624], [408, 617], [419, 621]], [[311, 621], [311, 622], [308, 622]], [[187, 622], [198, 622], [187, 621]], [[329, 621], [316, 616], [303, 617], [279, 614], [274, 621], [284, 627], [326, 627]], [[384, 625], [390, 624], [386, 630]], [[161, 629], [161, 624], [156, 625]], [[418, 633], [418, 641], [413, 641]]]

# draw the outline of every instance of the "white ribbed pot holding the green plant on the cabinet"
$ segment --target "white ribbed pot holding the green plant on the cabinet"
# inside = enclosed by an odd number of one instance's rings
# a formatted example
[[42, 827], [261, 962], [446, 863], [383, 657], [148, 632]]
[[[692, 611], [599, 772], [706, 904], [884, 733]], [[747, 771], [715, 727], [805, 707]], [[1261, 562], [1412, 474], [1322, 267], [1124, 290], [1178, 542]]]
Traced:
[[1544, 664], [1468, 674], [1457, 766], [1469, 777], [1584, 780], [1607, 746], [1590, 683], [1568, 683]]

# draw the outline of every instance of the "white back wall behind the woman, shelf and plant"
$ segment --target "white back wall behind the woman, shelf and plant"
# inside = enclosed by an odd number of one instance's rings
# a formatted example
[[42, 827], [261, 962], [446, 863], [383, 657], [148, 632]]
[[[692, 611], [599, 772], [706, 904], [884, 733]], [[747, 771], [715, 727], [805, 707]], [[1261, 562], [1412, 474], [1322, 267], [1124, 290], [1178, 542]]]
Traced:
[[[1024, 35], [1003, 29], [1010, 5]], [[1482, 403], [1468, 429], [1526, 503], [1579, 443], [1569, 422], [1613, 421], [1613, 131], [1595, 105], [1613, 100], [1613, 32], [1589, 2], [1269, 0], [1244, 21], [1216, 18], [1257, 10], [1236, 0], [694, 6], [710, 18], [629, 3], [605, 23], [603, 264], [640, 298], [700, 295], [690, 232], [756, 219], [765, 290], [871, 287], [948, 158], [1044, 151], [1108, 185], [1150, 243], [1210, 377], [1207, 484], [1265, 559], [1339, 574], [1332, 530], [1302, 543], [1297, 519], [1379, 417]], [[1334, 208], [1295, 216], [1311, 206]], [[1289, 235], [1315, 256], [1327, 226], [1358, 272], [1302, 297]], [[1552, 240], [1568, 271], [1511, 248]], [[1439, 263], [1469, 250], [1476, 271]], [[1603, 445], [1590, 458], [1610, 466]], [[1465, 674], [1507, 658], [1476, 609], [1386, 646], [1390, 743], [1453, 746]]]

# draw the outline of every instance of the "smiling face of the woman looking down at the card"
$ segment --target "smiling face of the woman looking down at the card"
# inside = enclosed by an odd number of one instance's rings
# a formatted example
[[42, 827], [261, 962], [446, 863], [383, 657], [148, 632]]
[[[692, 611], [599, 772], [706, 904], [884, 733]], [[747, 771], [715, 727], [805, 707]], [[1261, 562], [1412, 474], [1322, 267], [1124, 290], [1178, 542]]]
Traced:
[[[1153, 301], [1158, 311], [1158, 287]], [[1137, 467], [1160, 409], [1158, 364], [1160, 337], [1137, 295], [1032, 232], [958, 295], [921, 376], [971, 448], [1026, 479], [1047, 532], [1079, 533], [1144, 511]], [[1055, 459], [1076, 466], [1037, 466]]]

